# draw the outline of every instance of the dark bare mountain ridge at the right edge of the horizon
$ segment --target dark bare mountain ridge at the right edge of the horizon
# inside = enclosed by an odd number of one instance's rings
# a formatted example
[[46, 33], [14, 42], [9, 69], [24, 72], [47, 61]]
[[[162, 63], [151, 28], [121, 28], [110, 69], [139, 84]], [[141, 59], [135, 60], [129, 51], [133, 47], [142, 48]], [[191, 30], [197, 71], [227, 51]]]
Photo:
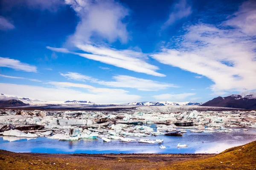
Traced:
[[247, 96], [241, 96], [237, 94], [232, 94], [227, 97], [218, 96], [202, 104], [201, 106], [256, 109], [256, 96], [253, 94]]

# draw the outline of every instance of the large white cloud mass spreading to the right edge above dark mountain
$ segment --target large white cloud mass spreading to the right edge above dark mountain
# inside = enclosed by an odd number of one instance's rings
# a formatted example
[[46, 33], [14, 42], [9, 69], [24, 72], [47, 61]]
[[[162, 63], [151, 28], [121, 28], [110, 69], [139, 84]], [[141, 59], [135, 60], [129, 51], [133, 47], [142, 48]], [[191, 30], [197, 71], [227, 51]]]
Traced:
[[186, 34], [177, 38], [180, 42], [176, 48], [163, 48], [151, 57], [208, 77], [215, 83], [210, 88], [216, 94], [256, 88], [256, 42], [250, 34], [241, 32], [240, 28], [217, 28], [207, 24], [186, 29]]

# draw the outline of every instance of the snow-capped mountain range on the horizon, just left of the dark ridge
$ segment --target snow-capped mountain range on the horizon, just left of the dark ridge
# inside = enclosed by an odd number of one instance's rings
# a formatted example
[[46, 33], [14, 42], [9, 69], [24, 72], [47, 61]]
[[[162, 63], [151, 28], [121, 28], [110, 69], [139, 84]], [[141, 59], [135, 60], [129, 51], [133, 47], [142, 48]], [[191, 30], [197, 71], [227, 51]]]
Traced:
[[139, 105], [139, 106], [165, 106], [165, 105], [201, 105], [198, 102], [131, 102], [128, 105]]

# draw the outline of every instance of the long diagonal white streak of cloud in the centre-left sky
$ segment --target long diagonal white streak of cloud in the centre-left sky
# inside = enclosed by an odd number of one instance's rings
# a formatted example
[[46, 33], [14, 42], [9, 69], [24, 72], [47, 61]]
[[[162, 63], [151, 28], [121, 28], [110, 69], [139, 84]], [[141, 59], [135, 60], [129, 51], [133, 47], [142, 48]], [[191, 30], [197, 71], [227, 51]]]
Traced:
[[143, 54], [142, 52], [132, 50], [117, 50], [114, 48], [93, 46], [89, 44], [76, 44], [76, 46], [79, 49], [91, 54], [70, 52], [66, 48], [47, 48], [56, 52], [76, 54], [87, 59], [93, 59], [138, 73], [145, 73], [158, 77], [166, 76], [156, 72], [156, 70], [159, 69], [157, 66], [145, 62], [144, 60], [147, 59], [147, 55]]

